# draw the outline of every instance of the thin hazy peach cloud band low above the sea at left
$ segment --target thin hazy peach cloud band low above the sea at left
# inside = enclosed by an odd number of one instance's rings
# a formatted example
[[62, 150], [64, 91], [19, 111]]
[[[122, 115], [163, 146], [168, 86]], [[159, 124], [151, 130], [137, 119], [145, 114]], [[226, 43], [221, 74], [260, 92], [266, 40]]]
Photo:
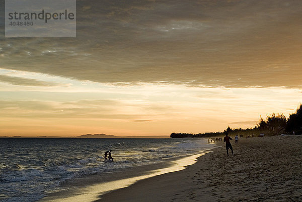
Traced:
[[[159, 114], [171, 115], [166, 107], [150, 108], [147, 104], [118, 100], [78, 100], [78, 101], [31, 101], [0, 100], [0, 113], [3, 117], [19, 118], [74, 118], [127, 120], [134, 122], [152, 121], [146, 117]], [[173, 115], [173, 114], [172, 114]]]

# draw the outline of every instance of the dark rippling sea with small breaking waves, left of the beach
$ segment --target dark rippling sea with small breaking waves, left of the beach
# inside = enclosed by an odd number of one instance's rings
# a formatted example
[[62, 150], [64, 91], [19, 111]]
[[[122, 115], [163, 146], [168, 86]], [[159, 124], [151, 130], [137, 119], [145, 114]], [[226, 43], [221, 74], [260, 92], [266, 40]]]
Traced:
[[[212, 148], [205, 139], [0, 139], [0, 201], [36, 201], [60, 183]], [[112, 150], [113, 162], [104, 162]]]

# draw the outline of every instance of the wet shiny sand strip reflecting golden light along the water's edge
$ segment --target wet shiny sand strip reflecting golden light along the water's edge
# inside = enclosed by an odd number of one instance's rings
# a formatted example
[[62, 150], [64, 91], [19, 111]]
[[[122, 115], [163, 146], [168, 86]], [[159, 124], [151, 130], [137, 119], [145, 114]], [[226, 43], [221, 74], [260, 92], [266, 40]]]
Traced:
[[[215, 147], [214, 144], [212, 145]], [[58, 189], [48, 192], [46, 197], [39, 201], [94, 201], [101, 194], [130, 186], [136, 181], [183, 170], [186, 166], [194, 164], [199, 156], [208, 153], [209, 150], [203, 149], [196, 154], [174, 157], [153, 164], [124, 168], [120, 171], [114, 170], [112, 172], [95, 173], [73, 178], [61, 183]]]

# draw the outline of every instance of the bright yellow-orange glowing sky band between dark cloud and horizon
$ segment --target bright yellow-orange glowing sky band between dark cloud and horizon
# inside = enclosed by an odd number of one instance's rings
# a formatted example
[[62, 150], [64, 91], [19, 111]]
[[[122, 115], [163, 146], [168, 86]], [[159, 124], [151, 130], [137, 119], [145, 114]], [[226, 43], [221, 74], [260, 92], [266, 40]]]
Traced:
[[255, 126], [260, 115], [278, 112], [288, 116], [300, 98], [299, 89], [280, 87], [113, 85], [37, 75], [14, 72], [19, 78], [60, 85], [0, 83], [1, 136], [151, 136], [223, 131], [228, 125], [247, 128]]

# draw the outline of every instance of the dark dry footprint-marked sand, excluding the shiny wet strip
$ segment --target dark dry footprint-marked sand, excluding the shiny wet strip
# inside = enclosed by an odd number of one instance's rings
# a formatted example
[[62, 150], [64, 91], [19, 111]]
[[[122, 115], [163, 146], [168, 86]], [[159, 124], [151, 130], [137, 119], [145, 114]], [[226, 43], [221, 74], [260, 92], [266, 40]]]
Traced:
[[231, 143], [234, 156], [226, 156], [221, 142], [184, 170], [140, 180], [97, 201], [302, 201], [302, 136]]

